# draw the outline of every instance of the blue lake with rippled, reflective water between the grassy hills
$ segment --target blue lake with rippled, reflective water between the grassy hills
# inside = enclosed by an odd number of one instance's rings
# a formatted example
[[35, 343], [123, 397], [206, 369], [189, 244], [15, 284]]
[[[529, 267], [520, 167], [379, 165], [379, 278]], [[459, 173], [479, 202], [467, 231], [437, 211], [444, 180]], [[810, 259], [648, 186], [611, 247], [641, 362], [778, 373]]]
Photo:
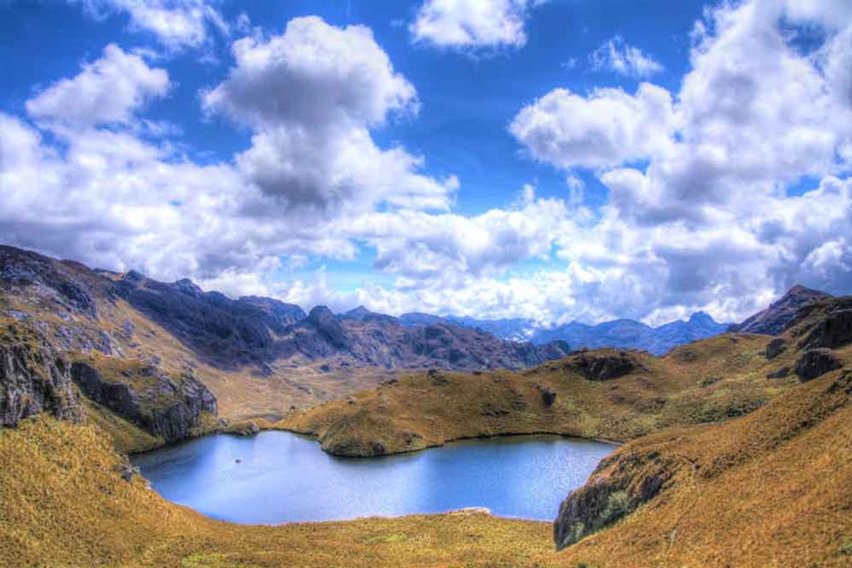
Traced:
[[[237, 523], [354, 519], [486, 507], [553, 520], [613, 445], [554, 436], [452, 443], [402, 456], [329, 456], [287, 432], [217, 434], [133, 458], [170, 501]], [[236, 462], [236, 460], [240, 462]]]

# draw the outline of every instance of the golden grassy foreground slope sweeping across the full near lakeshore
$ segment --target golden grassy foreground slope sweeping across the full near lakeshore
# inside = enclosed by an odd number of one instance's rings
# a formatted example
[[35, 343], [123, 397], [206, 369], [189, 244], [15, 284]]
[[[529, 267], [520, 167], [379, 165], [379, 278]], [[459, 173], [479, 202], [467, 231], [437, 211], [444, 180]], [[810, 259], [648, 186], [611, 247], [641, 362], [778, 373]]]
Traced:
[[[662, 491], [556, 553], [551, 526], [485, 514], [231, 525], [165, 502], [96, 427], [0, 429], [0, 565], [846, 566], [852, 561], [852, 372], [793, 387], [749, 416], [630, 442], [584, 490]], [[627, 485], [628, 488], [630, 485]], [[591, 490], [590, 490], [591, 488]]]

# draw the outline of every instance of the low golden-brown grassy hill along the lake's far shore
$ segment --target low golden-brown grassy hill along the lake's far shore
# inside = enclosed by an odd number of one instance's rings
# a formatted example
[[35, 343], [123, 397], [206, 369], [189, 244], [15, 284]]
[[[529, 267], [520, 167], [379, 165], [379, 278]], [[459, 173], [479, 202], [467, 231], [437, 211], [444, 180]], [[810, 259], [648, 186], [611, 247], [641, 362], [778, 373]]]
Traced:
[[[347, 456], [509, 433], [624, 441], [742, 416], [797, 384], [794, 376], [767, 378], [796, 357], [789, 350], [769, 361], [771, 339], [717, 336], [664, 358], [601, 349], [520, 373], [422, 373], [295, 412], [279, 427], [314, 434], [325, 450]], [[623, 374], [600, 380], [596, 367], [606, 373], [607, 364]]]

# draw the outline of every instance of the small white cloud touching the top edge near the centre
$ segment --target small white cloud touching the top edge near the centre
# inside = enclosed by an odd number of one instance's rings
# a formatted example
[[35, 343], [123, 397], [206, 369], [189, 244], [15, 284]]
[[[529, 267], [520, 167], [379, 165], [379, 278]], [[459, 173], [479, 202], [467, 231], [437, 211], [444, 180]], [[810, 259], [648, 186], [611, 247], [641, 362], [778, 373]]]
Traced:
[[454, 48], [520, 48], [528, 12], [541, 0], [426, 0], [409, 26], [417, 42]]

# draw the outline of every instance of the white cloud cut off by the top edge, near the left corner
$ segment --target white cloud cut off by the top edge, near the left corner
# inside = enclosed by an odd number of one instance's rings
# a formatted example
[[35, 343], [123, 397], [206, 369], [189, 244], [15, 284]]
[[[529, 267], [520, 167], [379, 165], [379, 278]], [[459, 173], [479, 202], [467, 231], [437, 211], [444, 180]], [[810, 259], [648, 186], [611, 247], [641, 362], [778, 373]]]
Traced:
[[198, 48], [208, 41], [209, 28], [227, 32], [222, 15], [208, 0], [69, 0], [84, 11], [102, 18], [120, 12], [130, 16], [130, 25], [152, 33], [167, 49]]

